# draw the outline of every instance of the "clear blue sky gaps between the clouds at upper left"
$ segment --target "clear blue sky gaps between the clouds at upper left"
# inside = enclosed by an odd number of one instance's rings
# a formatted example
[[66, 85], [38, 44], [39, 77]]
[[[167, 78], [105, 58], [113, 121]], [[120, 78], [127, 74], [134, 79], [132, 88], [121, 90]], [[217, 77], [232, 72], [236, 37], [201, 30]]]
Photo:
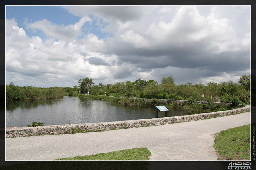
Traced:
[[[93, 15], [89, 15], [92, 19], [92, 22], [86, 22], [82, 26], [83, 35], [78, 37], [78, 39], [83, 38], [86, 34], [93, 33], [99, 39], [106, 40], [105, 37], [112, 36], [113, 34], [107, 32], [101, 32], [100, 29], [108, 25], [102, 19], [99, 19], [100, 25], [97, 25], [97, 19]], [[79, 22], [81, 17], [77, 17], [68, 13], [68, 11], [62, 7], [56, 6], [6, 6], [6, 18], [11, 19], [15, 18], [15, 21], [18, 23], [20, 28], [26, 31], [26, 34], [29, 37], [39, 36], [44, 40], [45, 35], [40, 29], [31, 30], [27, 28], [24, 22], [34, 23], [36, 21], [41, 21], [47, 19], [57, 25], [74, 25]]]

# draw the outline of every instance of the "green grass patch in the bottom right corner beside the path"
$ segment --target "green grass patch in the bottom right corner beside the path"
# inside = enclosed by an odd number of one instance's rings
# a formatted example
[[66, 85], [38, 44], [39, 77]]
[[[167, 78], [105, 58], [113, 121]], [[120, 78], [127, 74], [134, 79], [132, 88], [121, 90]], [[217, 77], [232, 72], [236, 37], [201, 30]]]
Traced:
[[217, 160], [250, 160], [250, 125], [222, 130], [214, 142]]

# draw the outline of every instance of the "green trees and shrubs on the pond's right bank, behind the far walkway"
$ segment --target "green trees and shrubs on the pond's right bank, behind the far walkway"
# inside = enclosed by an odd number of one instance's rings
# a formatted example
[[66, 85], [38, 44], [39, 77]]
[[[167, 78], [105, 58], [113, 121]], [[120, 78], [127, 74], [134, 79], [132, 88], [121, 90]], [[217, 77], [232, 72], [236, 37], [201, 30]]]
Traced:
[[[170, 99], [170, 100], [197, 100], [211, 101], [214, 97], [220, 97], [221, 102], [230, 102], [237, 99], [242, 100], [242, 95], [246, 95], [246, 104], [250, 104], [251, 75], [243, 75], [239, 78], [238, 83], [233, 81], [223, 81], [220, 83], [209, 82], [204, 84], [187, 84], [175, 85], [172, 76], [162, 78], [158, 84], [155, 80], [125, 81], [114, 84], [103, 85], [99, 83], [94, 85], [92, 79], [83, 78], [78, 80], [78, 86], [66, 88], [67, 92], [81, 92], [90, 94], [105, 94], [124, 96], [126, 93], [129, 97], [147, 98], [147, 99]], [[72, 91], [73, 90], [73, 91]], [[203, 95], [204, 94], [204, 98]]]

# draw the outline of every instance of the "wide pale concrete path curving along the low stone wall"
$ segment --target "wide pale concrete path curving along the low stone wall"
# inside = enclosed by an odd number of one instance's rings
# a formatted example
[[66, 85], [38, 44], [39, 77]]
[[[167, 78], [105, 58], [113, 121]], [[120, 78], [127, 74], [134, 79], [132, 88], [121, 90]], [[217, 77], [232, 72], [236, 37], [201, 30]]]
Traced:
[[216, 160], [214, 134], [250, 124], [251, 112], [104, 132], [6, 138], [6, 160], [54, 160], [146, 147], [151, 160]]

